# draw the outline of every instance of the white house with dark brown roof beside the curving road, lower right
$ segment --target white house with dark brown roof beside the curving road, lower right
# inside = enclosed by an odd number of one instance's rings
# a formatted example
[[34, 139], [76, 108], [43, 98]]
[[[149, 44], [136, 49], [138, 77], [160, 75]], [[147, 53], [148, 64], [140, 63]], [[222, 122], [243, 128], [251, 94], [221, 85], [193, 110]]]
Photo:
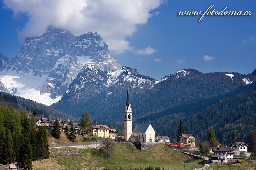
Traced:
[[212, 147], [211, 162], [227, 162], [227, 147]]

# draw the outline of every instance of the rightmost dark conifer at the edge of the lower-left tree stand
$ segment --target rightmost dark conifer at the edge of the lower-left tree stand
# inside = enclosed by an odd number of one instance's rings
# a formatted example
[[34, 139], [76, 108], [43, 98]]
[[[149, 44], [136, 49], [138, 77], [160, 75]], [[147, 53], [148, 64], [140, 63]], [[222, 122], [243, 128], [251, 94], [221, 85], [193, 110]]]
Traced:
[[39, 127], [39, 130], [37, 132], [37, 138], [38, 138], [38, 148], [39, 148], [39, 159], [47, 159], [49, 158], [49, 144], [48, 144], [48, 131], [45, 126]]

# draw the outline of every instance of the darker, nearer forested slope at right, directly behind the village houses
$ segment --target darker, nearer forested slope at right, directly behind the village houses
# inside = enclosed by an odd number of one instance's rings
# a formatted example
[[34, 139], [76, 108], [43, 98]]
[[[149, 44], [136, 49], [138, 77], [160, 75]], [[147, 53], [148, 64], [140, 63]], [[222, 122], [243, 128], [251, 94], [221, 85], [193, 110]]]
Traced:
[[[200, 111], [208, 102], [216, 103], [209, 103], [209, 107]], [[192, 114], [196, 110], [199, 111]], [[199, 140], [206, 140], [208, 129], [212, 126], [216, 138], [225, 145], [233, 141], [246, 142], [248, 133], [256, 128], [256, 83], [237, 89], [225, 99], [199, 100], [159, 115], [146, 116], [135, 123], [151, 123], [157, 134], [175, 139], [178, 122], [182, 119], [185, 133], [194, 134]]]

